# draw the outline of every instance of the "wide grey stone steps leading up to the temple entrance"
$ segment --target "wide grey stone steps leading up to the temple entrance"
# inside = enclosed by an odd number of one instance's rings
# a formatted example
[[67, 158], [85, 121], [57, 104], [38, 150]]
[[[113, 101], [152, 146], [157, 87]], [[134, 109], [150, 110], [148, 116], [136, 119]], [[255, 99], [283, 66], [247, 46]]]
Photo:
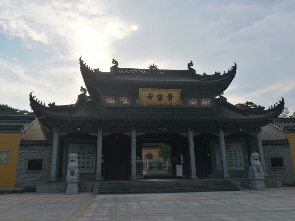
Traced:
[[93, 194], [238, 191], [227, 179], [101, 181]]

